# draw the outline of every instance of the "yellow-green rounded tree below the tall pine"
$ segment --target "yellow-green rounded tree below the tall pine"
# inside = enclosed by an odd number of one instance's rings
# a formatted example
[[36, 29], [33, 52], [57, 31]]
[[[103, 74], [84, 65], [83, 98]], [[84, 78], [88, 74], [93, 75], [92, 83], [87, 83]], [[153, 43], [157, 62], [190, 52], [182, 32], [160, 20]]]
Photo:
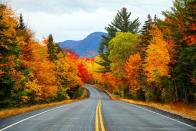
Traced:
[[111, 61], [110, 67], [112, 73], [117, 78], [121, 79], [124, 76], [123, 64], [129, 58], [129, 55], [133, 53], [135, 45], [138, 43], [138, 37], [132, 33], [118, 32], [109, 42]]

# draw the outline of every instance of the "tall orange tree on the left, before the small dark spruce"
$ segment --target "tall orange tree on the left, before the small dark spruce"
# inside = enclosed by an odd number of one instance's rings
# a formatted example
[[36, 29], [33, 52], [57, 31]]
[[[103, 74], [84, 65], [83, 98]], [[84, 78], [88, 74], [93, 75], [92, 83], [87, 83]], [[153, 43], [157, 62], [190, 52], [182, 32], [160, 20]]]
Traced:
[[26, 89], [31, 92], [31, 100], [46, 100], [56, 95], [58, 89], [55, 64], [48, 60], [46, 47], [39, 43], [29, 43], [31, 59], [25, 65], [31, 69], [29, 80], [25, 83]]

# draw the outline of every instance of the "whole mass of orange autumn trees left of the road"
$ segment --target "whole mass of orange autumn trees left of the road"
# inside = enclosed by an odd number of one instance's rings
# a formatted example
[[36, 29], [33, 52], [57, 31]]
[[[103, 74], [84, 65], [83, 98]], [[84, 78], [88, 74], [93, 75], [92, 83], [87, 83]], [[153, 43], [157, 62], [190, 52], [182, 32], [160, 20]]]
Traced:
[[0, 106], [78, 97], [85, 69], [79, 58], [61, 50], [52, 35], [38, 42], [6, 5], [0, 4]]

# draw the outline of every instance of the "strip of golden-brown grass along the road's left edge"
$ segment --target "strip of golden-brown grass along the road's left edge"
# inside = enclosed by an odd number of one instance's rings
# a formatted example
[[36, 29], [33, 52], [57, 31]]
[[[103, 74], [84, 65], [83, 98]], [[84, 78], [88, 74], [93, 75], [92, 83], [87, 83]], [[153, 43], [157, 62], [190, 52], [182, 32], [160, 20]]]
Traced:
[[22, 114], [22, 113], [29, 112], [29, 111], [33, 111], [33, 110], [38, 110], [41, 108], [53, 107], [53, 106], [58, 106], [58, 105], [62, 105], [62, 104], [76, 102], [81, 99], [85, 99], [87, 97], [88, 97], [88, 91], [86, 89], [84, 89], [83, 94], [78, 99], [70, 99], [70, 100], [64, 100], [64, 101], [59, 101], [59, 102], [51, 102], [51, 103], [36, 104], [36, 105], [23, 106], [23, 107], [13, 107], [13, 108], [1, 109], [0, 110], [0, 119], [4, 119], [4, 118], [10, 117], [10, 116], [15, 116], [15, 115]]

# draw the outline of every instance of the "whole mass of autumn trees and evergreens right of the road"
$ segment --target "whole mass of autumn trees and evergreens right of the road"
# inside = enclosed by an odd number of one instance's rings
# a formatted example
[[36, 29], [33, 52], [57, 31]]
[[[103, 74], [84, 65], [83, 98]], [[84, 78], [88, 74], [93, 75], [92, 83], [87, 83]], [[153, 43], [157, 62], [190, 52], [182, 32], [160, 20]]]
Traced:
[[106, 27], [92, 81], [122, 97], [195, 102], [195, 7], [195, 0], [175, 0], [162, 12], [164, 20], [148, 15], [140, 31], [138, 18], [131, 21], [126, 8], [118, 11]]

